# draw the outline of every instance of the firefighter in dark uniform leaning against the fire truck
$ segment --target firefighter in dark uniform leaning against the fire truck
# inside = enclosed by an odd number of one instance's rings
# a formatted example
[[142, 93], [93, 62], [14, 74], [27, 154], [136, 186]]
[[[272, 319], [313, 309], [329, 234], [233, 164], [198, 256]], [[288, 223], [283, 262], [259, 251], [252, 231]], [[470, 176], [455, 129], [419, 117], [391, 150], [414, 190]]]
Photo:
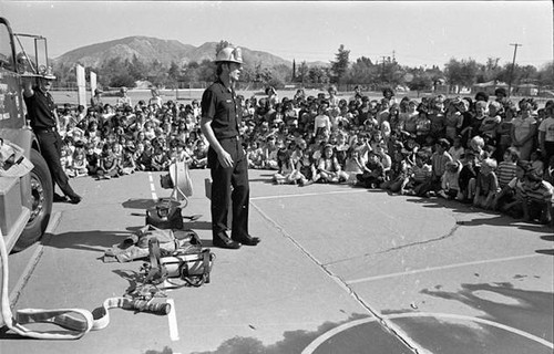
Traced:
[[58, 184], [64, 194], [64, 197], [54, 194], [54, 201], [63, 201], [69, 198], [72, 204], [78, 204], [82, 198], [71, 188], [68, 175], [63, 171], [60, 162], [63, 142], [58, 133], [59, 119], [55, 104], [49, 92], [52, 80], [55, 80], [55, 76], [48, 71], [37, 79], [37, 86], [32, 85], [31, 79], [25, 79], [23, 100], [31, 121], [31, 128], [39, 140], [40, 150], [50, 169], [52, 181]]

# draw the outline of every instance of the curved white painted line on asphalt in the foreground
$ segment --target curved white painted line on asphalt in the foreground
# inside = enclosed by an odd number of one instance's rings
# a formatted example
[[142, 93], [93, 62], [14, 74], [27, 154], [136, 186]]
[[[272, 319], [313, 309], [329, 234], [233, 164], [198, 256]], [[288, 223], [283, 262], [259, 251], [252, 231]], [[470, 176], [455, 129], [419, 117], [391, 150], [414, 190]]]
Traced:
[[[543, 340], [542, 337], [538, 337], [536, 335], [533, 335], [529, 332], [524, 332], [524, 331], [521, 331], [521, 330], [517, 330], [517, 329], [514, 329], [512, 326], [507, 326], [505, 324], [502, 324], [502, 323], [497, 323], [497, 322], [493, 322], [493, 321], [489, 321], [489, 320], [485, 320], [485, 319], [480, 319], [480, 317], [473, 317], [473, 316], [464, 316], [464, 315], [459, 315], [459, 314], [450, 314], [450, 313], [430, 313], [430, 312], [416, 312], [416, 313], [397, 313], [397, 314], [391, 314], [391, 315], [386, 315], [384, 317], [387, 317], [388, 320], [397, 320], [397, 319], [404, 319], [404, 317], [447, 317], [447, 319], [454, 319], [454, 320], [464, 320], [464, 321], [472, 321], [472, 322], [478, 322], [478, 323], [482, 323], [482, 324], [488, 324], [488, 325], [491, 325], [491, 326], [494, 326], [494, 327], [497, 327], [497, 329], [501, 329], [501, 330], [504, 330], [504, 331], [507, 331], [507, 332], [512, 332], [514, 334], [517, 334], [517, 335], [521, 335], [527, 340], [531, 340], [531, 341], [534, 341], [534, 342], [537, 342], [544, 346], [547, 346], [550, 348], [554, 348], [554, 344], [546, 341], [546, 340]], [[324, 344], [325, 342], [327, 342], [329, 339], [331, 339], [332, 336], [341, 333], [341, 332], [345, 332], [349, 329], [352, 329], [355, 326], [358, 326], [358, 325], [361, 325], [361, 324], [366, 324], [366, 323], [371, 323], [371, 322], [376, 322], [378, 321], [378, 319], [376, 317], [367, 317], [367, 319], [360, 319], [360, 320], [356, 320], [356, 321], [352, 321], [352, 322], [348, 322], [348, 323], [345, 323], [342, 325], [339, 325], [324, 334], [321, 334], [320, 336], [318, 336], [314, 342], [311, 342], [307, 347], [304, 348], [304, 351], [301, 352], [301, 354], [311, 354], [314, 353], [321, 344]]]

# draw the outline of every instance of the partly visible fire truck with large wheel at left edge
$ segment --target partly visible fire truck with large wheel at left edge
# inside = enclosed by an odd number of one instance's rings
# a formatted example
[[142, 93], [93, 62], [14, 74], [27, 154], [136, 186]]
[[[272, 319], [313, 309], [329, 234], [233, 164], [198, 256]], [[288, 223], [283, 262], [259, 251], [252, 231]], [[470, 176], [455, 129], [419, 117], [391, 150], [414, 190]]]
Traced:
[[32, 163], [23, 176], [0, 175], [0, 230], [8, 251], [37, 242], [52, 211], [52, 178], [27, 119], [22, 94], [23, 77], [40, 76], [48, 67], [47, 39], [13, 33], [8, 20], [0, 17], [0, 143], [18, 152], [19, 162]]

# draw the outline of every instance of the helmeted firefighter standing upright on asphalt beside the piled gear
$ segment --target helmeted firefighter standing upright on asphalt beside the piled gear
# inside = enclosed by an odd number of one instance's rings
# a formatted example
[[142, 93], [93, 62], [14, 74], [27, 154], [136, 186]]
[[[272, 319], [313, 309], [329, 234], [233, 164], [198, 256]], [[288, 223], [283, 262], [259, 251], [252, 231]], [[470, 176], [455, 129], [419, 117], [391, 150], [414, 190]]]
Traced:
[[[215, 247], [238, 249], [240, 244], [256, 246], [259, 242], [259, 238], [248, 233], [248, 162], [239, 136], [242, 110], [234, 87], [242, 71], [240, 49], [222, 49], [215, 62], [217, 79], [206, 88], [201, 103], [201, 129], [209, 142], [212, 237]], [[233, 221], [229, 238], [227, 215], [230, 202]]]

